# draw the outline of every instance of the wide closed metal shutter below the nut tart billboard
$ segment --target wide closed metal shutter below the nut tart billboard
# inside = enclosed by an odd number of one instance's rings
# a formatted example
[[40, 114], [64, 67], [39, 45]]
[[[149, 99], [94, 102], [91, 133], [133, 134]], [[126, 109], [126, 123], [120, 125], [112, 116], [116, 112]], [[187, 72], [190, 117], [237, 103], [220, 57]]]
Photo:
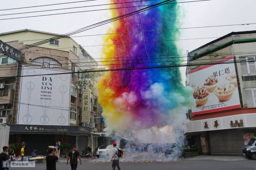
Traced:
[[242, 155], [243, 130], [214, 130], [208, 132], [210, 155]]

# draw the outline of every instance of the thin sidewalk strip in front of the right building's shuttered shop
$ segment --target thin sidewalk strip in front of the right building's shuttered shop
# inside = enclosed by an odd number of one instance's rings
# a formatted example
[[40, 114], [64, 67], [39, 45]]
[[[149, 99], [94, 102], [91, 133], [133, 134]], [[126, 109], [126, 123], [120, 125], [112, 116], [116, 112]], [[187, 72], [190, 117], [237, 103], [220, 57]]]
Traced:
[[218, 155], [199, 155], [184, 160], [216, 160], [216, 161], [246, 161], [246, 156], [218, 156]]

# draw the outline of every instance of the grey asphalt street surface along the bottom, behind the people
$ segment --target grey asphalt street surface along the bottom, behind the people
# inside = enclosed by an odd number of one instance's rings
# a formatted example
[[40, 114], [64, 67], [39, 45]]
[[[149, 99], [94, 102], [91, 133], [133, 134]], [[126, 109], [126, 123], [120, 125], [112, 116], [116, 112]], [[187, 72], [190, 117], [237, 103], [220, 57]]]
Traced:
[[[175, 161], [163, 162], [140, 162], [141, 155], [129, 158], [128, 161], [120, 162], [121, 170], [256, 170], [256, 161], [249, 160], [243, 156], [196, 156], [189, 159], [179, 158]], [[135, 163], [137, 160], [137, 163]], [[160, 161], [159, 159], [158, 161]], [[93, 161], [96, 161], [94, 163]], [[70, 170], [70, 164], [65, 163], [65, 159], [61, 159], [56, 164], [57, 170]], [[15, 168], [15, 170], [25, 170], [23, 168]], [[36, 168], [29, 170], [46, 170], [46, 162], [37, 163]], [[111, 163], [100, 163], [97, 160], [83, 159], [82, 165], [78, 165], [77, 170], [112, 170]], [[116, 168], [117, 170], [117, 168]]]

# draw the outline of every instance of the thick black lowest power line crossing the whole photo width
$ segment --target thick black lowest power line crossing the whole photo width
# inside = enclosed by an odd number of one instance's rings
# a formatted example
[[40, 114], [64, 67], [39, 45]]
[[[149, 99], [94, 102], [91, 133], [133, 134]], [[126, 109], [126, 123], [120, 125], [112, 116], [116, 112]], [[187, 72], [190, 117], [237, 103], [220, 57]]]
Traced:
[[[153, 68], [175, 68], [175, 67], [187, 67], [187, 66], [200, 66], [200, 65], [218, 65], [218, 64], [229, 64], [229, 63], [244, 63], [244, 62], [256, 62], [256, 60], [250, 61], [228, 61], [228, 62], [200, 62], [200, 63], [190, 63], [190, 64], [175, 64], [175, 65], [160, 65], [160, 66], [146, 66], [146, 67], [133, 67], [133, 68], [112, 68], [104, 70], [89, 70], [89, 71], [75, 71], [75, 72], [65, 72], [65, 73], [53, 73], [53, 74], [37, 74], [37, 75], [27, 75], [27, 76], [13, 76], [15, 77], [34, 77], [34, 76], [49, 76], [49, 75], [59, 75], [59, 74], [80, 74], [80, 73], [94, 73], [94, 72], [106, 72], [106, 71], [131, 71], [131, 70], [141, 70], [141, 69], [153, 69]], [[0, 79], [12, 78], [12, 77], [0, 77]]]

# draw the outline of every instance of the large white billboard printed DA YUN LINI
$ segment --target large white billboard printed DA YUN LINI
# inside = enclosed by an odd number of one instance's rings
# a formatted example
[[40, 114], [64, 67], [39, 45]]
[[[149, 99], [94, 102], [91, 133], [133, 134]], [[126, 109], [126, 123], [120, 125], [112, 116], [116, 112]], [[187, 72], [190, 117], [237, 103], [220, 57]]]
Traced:
[[66, 72], [22, 66], [17, 124], [69, 125], [71, 75], [58, 73]]

